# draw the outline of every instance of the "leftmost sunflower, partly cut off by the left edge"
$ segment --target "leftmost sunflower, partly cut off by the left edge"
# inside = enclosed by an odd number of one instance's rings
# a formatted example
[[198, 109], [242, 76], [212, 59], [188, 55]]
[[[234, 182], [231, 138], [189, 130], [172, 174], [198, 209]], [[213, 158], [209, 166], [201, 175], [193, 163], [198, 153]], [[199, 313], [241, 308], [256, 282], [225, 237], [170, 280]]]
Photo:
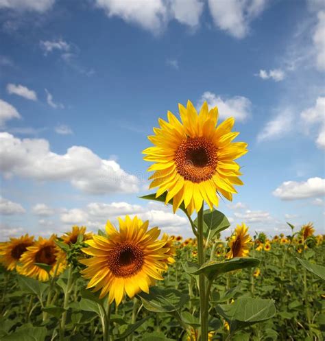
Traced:
[[10, 242], [0, 244], [1, 263], [7, 270], [19, 268], [19, 259], [29, 246], [34, 243], [34, 236], [23, 235], [19, 238], [10, 238]]

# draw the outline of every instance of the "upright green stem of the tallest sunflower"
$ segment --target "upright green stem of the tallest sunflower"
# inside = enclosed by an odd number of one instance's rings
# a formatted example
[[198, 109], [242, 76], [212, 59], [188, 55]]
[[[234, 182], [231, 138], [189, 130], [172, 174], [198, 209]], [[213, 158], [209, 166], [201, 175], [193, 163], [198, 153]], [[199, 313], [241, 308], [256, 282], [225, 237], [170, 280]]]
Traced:
[[[197, 213], [197, 256], [199, 267], [205, 261], [204, 257], [204, 238], [203, 238], [203, 204]], [[208, 304], [206, 306], [206, 280], [204, 274], [199, 275], [200, 290], [200, 325], [201, 325], [201, 341], [208, 341]], [[208, 301], [208, 300], [207, 300]]]

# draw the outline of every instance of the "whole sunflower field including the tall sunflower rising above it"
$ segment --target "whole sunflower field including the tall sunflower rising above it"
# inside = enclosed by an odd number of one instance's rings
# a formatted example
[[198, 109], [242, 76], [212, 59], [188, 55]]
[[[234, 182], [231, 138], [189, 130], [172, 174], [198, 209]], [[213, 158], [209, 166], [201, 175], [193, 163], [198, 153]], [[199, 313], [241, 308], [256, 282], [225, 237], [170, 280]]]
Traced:
[[288, 223], [290, 235], [230, 229], [216, 207], [243, 185], [234, 160], [247, 144], [216, 107], [179, 109], [149, 136], [158, 188], [142, 198], [183, 211], [193, 237], [126, 215], [95, 233], [2, 242], [0, 340], [324, 340], [323, 235], [312, 223]]

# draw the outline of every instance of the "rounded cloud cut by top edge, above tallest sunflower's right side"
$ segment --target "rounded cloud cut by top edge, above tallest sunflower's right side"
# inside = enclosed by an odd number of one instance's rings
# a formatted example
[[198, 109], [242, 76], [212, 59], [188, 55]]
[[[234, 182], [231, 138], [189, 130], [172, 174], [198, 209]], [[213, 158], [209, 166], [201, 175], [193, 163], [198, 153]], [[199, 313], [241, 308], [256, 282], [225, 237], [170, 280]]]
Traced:
[[250, 22], [265, 10], [266, 0], [208, 0], [215, 26], [235, 38], [250, 31]]

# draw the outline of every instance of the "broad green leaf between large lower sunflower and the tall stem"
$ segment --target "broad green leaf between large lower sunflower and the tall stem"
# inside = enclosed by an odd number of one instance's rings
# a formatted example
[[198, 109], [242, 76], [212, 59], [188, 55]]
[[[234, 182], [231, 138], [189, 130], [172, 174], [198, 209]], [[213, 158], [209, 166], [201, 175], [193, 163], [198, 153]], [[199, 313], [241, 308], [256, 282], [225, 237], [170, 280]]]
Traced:
[[155, 313], [176, 311], [189, 301], [189, 295], [182, 294], [175, 289], [163, 289], [161, 287], [151, 287], [149, 294], [141, 292], [138, 296], [141, 298], [143, 307]]

